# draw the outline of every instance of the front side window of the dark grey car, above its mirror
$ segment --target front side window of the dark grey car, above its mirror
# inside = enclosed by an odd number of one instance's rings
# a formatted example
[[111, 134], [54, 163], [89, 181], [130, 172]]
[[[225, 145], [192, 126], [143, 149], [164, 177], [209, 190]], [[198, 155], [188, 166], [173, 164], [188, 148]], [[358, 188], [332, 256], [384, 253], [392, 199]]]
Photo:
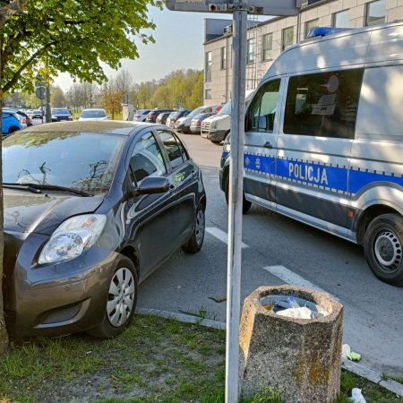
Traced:
[[130, 167], [137, 184], [147, 176], [167, 174], [161, 150], [152, 133], [143, 134], [136, 142], [130, 158]]

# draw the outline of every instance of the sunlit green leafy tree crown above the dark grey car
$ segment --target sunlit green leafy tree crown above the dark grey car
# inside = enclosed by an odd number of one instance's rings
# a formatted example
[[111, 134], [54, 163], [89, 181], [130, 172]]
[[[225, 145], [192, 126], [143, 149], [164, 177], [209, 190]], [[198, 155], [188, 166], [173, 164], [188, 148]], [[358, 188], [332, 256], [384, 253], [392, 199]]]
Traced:
[[105, 81], [101, 62], [119, 68], [121, 59], [138, 57], [136, 40], [154, 42], [142, 30], [155, 28], [147, 19], [147, 7], [160, 4], [159, 0], [28, 2], [24, 13], [4, 22], [0, 33], [3, 91], [33, 90], [39, 72]]

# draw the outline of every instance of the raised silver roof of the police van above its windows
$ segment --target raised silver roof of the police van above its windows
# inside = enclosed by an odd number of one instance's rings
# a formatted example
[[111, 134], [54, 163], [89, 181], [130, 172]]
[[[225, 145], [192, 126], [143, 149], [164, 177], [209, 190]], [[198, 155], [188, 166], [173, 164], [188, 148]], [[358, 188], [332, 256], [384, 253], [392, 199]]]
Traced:
[[346, 69], [403, 60], [403, 21], [328, 32], [288, 47], [271, 64], [263, 80], [319, 69]]

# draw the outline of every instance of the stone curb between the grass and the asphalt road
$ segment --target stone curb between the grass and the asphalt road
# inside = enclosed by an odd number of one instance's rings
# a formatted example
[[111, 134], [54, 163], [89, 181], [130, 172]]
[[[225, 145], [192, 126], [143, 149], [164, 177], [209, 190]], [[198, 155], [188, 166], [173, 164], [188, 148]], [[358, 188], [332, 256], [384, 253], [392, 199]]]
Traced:
[[[159, 309], [149, 309], [149, 308], [137, 308], [136, 313], [143, 315], [156, 315], [167, 319], [175, 319], [180, 322], [187, 323], [197, 323], [201, 326], [206, 326], [208, 328], [214, 328], [219, 330], [226, 330], [227, 324], [225, 322], [211, 321], [210, 319], [201, 319], [199, 316], [186, 315], [184, 313], [175, 313], [168, 311], [161, 311]], [[399, 396], [403, 396], [403, 385], [399, 382], [392, 380], [385, 381], [382, 379], [382, 373], [373, 371], [370, 368], [366, 368], [361, 364], [356, 364], [353, 361], [348, 360], [345, 357], [341, 357], [341, 367], [349, 371], [350, 373], [356, 373], [356, 375], [361, 376], [368, 381], [377, 383], [383, 388], [396, 393]]]

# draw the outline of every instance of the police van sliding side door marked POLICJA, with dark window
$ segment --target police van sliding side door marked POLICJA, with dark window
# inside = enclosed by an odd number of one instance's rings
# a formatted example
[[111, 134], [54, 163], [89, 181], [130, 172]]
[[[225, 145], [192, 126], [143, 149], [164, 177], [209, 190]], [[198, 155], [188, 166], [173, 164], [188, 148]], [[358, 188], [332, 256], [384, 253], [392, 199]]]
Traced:
[[278, 139], [277, 210], [339, 236], [362, 78], [362, 68], [289, 77]]

